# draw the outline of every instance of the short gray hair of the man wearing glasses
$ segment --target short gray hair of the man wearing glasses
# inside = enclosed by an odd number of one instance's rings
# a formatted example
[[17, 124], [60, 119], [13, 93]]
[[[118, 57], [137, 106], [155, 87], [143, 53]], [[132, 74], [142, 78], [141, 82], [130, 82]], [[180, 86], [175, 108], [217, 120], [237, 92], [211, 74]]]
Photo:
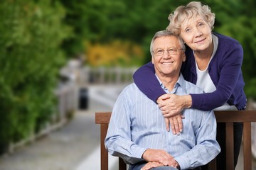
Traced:
[[160, 30], [158, 32], [155, 33], [154, 37], [152, 38], [151, 40], [151, 43], [150, 43], [150, 54], [151, 56], [153, 56], [153, 44], [154, 44], [154, 41], [156, 40], [156, 38], [161, 38], [161, 37], [170, 37], [170, 36], [174, 36], [176, 38], [178, 38], [178, 42], [179, 42], [179, 45], [181, 46], [181, 49], [183, 51], [186, 50], [186, 47], [184, 45], [184, 42], [183, 40], [181, 39], [180, 36], [178, 35], [175, 35], [174, 33], [172, 33], [171, 31], [169, 30]]

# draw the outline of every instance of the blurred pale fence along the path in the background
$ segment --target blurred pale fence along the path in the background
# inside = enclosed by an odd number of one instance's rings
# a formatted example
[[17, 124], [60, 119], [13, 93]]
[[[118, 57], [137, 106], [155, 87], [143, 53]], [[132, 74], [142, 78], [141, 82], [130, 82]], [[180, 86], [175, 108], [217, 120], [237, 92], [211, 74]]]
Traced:
[[[102, 84], [128, 84], [133, 81], [132, 75], [137, 68], [78, 68], [65, 67], [61, 70], [60, 76], [65, 81], [60, 82], [60, 86], [55, 91], [55, 96], [58, 100], [58, 113], [53, 115], [43, 130], [20, 142], [9, 145], [8, 152], [13, 152], [17, 147], [26, 145], [28, 142], [33, 142], [36, 138], [48, 134], [49, 132], [60, 128], [64, 125], [75, 111], [79, 108], [80, 91], [82, 88], [90, 88], [93, 85]], [[88, 97], [88, 96], [85, 96]]]

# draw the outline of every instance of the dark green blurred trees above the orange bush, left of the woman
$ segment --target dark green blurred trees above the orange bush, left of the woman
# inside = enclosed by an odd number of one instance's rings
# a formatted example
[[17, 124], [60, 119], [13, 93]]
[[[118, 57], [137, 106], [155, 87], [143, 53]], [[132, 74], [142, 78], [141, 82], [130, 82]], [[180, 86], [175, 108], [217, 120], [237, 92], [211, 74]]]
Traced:
[[[124, 39], [146, 44], [156, 30], [169, 23], [167, 13], [174, 9], [169, 0], [162, 1], [69, 1], [60, 0], [68, 8], [66, 23], [73, 26], [73, 38], [65, 42], [68, 54], [84, 52], [84, 41], [110, 42]], [[180, 4], [181, 1], [172, 4]]]

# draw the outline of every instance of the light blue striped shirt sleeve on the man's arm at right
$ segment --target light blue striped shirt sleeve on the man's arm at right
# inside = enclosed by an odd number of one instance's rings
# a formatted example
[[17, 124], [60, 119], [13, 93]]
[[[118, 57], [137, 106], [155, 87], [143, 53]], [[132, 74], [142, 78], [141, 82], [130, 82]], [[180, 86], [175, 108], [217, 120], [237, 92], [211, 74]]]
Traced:
[[210, 162], [220, 153], [216, 139], [216, 120], [213, 111], [206, 112], [196, 130], [196, 146], [175, 157], [181, 169], [196, 168]]

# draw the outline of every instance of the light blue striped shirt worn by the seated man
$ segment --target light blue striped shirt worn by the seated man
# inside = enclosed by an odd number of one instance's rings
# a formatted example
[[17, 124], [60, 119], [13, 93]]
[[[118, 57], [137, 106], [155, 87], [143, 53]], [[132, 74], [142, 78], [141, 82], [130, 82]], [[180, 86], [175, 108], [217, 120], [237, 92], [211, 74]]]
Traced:
[[[160, 82], [161, 83], [161, 82]], [[194, 84], [179, 77], [174, 89], [167, 93], [201, 94]], [[159, 107], [139, 91], [135, 84], [127, 86], [117, 98], [112, 111], [105, 146], [110, 154], [122, 157], [127, 164], [142, 162], [146, 149], [164, 149], [180, 164], [181, 169], [207, 164], [220, 152], [215, 140], [216, 120], [213, 111], [193, 108], [183, 110], [181, 135], [167, 132]]]

